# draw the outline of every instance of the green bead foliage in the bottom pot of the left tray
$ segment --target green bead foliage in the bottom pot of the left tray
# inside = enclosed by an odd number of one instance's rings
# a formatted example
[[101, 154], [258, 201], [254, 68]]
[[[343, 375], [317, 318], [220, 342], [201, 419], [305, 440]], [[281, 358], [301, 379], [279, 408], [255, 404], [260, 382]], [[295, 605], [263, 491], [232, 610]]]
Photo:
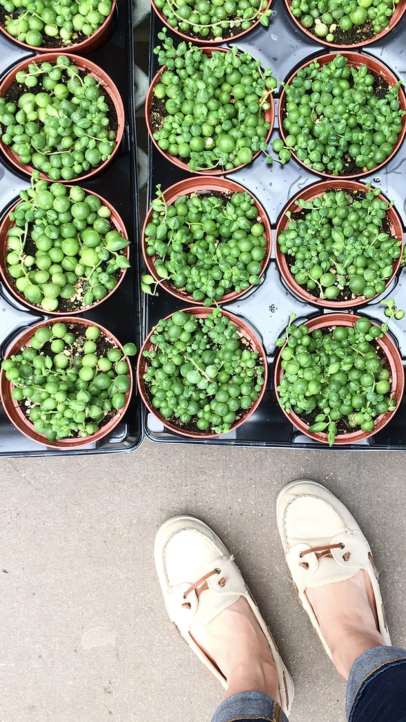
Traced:
[[124, 354], [97, 326], [86, 331], [74, 323], [41, 326], [30, 345], [1, 363], [12, 383], [12, 398], [48, 441], [87, 438], [97, 432], [105, 417], [125, 406], [131, 387], [129, 355]]

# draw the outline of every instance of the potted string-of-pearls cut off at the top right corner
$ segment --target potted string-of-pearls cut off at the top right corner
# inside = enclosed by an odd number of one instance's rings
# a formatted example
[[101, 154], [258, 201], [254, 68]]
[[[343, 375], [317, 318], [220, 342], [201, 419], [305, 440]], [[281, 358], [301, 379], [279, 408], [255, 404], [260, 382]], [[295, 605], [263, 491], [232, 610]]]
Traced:
[[405, 0], [356, 0], [345, 6], [327, 0], [285, 0], [288, 13], [309, 38], [332, 48], [369, 45], [383, 38], [402, 18]]

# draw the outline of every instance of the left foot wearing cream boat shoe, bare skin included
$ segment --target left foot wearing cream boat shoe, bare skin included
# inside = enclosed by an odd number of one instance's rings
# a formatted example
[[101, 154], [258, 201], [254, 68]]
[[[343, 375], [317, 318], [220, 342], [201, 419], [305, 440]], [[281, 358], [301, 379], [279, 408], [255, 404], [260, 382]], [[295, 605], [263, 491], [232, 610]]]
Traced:
[[265, 692], [289, 713], [294, 684], [233, 557], [203, 521], [178, 516], [156, 534], [170, 619], [227, 692]]

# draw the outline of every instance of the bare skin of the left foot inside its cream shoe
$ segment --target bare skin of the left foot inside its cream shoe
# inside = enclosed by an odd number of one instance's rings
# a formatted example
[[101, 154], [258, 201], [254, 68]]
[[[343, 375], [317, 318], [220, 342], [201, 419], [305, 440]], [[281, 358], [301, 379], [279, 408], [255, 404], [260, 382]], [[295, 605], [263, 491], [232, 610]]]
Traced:
[[246, 599], [240, 597], [204, 627], [192, 625], [190, 634], [229, 682], [224, 699], [236, 692], [265, 692], [281, 704], [270, 646]]

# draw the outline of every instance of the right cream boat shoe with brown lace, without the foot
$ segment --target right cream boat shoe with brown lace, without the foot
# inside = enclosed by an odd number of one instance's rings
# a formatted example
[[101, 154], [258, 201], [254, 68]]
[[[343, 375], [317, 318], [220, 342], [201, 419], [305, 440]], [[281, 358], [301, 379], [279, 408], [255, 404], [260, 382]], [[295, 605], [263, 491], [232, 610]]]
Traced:
[[330, 659], [332, 653], [322, 635], [306, 589], [350, 579], [361, 569], [371, 580], [378, 630], [385, 644], [390, 645], [374, 557], [348, 509], [321, 484], [301, 479], [281, 491], [276, 501], [276, 516], [297, 596]]

